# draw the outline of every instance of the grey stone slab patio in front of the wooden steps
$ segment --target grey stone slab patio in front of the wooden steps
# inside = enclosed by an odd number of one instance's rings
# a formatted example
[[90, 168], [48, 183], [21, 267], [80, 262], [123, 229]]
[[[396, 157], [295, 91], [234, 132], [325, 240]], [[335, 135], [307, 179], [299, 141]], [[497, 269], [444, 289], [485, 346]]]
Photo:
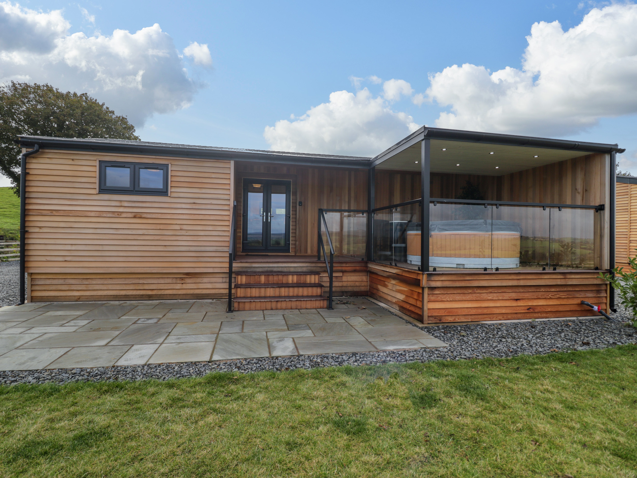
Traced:
[[438, 348], [447, 344], [362, 298], [334, 310], [225, 313], [224, 300], [0, 307], [0, 370], [110, 367]]

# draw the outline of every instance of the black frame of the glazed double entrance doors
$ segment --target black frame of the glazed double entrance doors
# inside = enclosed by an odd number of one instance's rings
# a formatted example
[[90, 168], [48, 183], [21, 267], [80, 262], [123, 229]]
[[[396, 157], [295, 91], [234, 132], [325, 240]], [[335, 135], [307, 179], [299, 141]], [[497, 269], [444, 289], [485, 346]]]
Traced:
[[[263, 185], [263, 210], [270, 211], [272, 185], [285, 186], [285, 246], [270, 246], [271, 221], [264, 221], [263, 246], [247, 246], [247, 216], [248, 216], [248, 184], [261, 183]], [[242, 215], [241, 215], [241, 251], [243, 252], [267, 252], [267, 253], [289, 253], [290, 252], [290, 223], [292, 218], [292, 181], [290, 179], [263, 179], [263, 178], [243, 178], [242, 184]], [[268, 213], [269, 214], [269, 213]], [[268, 218], [269, 219], [269, 218]]]

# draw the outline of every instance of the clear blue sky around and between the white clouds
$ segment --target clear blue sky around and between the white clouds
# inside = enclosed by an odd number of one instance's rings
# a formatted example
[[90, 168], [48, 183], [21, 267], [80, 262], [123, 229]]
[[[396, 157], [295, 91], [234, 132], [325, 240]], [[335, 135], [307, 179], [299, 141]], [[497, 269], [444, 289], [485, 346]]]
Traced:
[[[557, 20], [562, 30], [567, 31], [580, 25], [592, 8], [603, 8], [605, 4], [578, 1], [175, 3], [111, 0], [108, 3], [20, 1], [19, 6], [23, 11], [43, 13], [61, 10], [59, 16], [70, 24], [66, 35], [83, 32], [87, 37], [99, 34], [108, 37], [116, 29], [133, 34], [159, 24], [162, 32], [172, 39], [178, 52], [183, 52], [192, 42], [208, 46], [211, 67], [197, 65], [194, 60], [183, 58], [183, 67], [187, 69], [190, 81], [187, 87], [190, 90], [183, 98], [190, 102], [190, 106], [182, 109], [174, 106], [149, 107], [143, 115], [138, 115], [141, 118], [138, 119], [138, 134], [145, 141], [264, 150], [278, 144], [291, 144], [297, 149], [303, 146], [310, 149], [326, 148], [321, 146], [323, 143], [320, 141], [315, 141], [315, 136], [320, 136], [321, 132], [310, 122], [306, 122], [308, 127], [305, 128], [301, 127], [301, 123], [296, 125], [298, 127], [282, 125], [282, 129], [273, 131], [274, 136], [270, 136], [269, 141], [264, 137], [264, 129], [274, 127], [280, 120], [298, 122], [290, 115], [298, 118], [310, 108], [330, 102], [333, 92], [347, 90], [355, 94], [357, 90], [368, 88], [369, 98], [380, 98], [378, 101], [379, 104], [383, 102], [382, 108], [404, 113], [411, 116], [412, 120], [403, 120], [403, 116], [392, 117], [387, 123], [379, 120], [378, 128], [392, 132], [372, 138], [371, 143], [366, 136], [352, 140], [359, 139], [361, 143], [368, 141], [368, 144], [373, 144], [369, 150], [357, 150], [345, 145], [337, 151], [314, 151], [344, 154], [361, 151], [361, 154], [368, 155], [369, 151], [374, 151], [373, 148], [380, 148], [376, 151], [379, 153], [390, 146], [396, 135], [406, 136], [403, 132], [408, 133], [409, 124], [433, 126], [441, 112], [452, 111], [453, 105], [440, 106], [437, 102], [448, 97], [448, 91], [434, 94], [433, 97], [430, 94], [430, 101], [416, 104], [414, 95], [423, 94], [427, 97], [427, 88], [432, 87], [430, 75], [462, 64], [483, 66], [489, 72], [506, 67], [521, 69], [522, 55], [529, 46], [526, 37], [531, 35], [531, 26], [535, 22], [550, 23]], [[536, 36], [536, 33], [533, 35]], [[550, 39], [546, 41], [550, 42]], [[636, 53], [631, 52], [632, 55]], [[540, 61], [548, 64], [548, 60]], [[83, 85], [89, 90], [92, 88], [90, 78], [83, 80], [84, 83], [71, 84], [68, 72], [62, 74], [54, 63], [51, 65], [48, 70], [23, 72], [18, 66], [3, 66], [0, 63], [0, 79], [17, 78], [23, 74], [33, 81], [45, 78], [61, 89], [81, 89]], [[479, 73], [476, 74], [479, 76]], [[632, 71], [627, 74], [630, 76]], [[460, 81], [458, 75], [454, 78]], [[373, 76], [382, 81], [370, 80]], [[361, 80], [357, 83], [352, 77]], [[469, 80], [464, 78], [462, 81], [471, 81], [471, 78], [469, 76]], [[403, 92], [388, 101], [387, 92], [383, 96], [383, 85], [390, 79], [409, 83], [412, 91]], [[440, 78], [439, 88], [444, 87], [443, 80]], [[635, 80], [637, 78], [633, 76], [633, 85], [637, 83]], [[461, 85], [457, 87], [463, 88]], [[621, 84], [619, 87], [613, 85], [613, 88], [621, 88]], [[92, 94], [101, 101], [107, 101], [107, 105], [117, 106], [117, 88], [115, 90], [115, 96], [113, 91], [101, 96], [99, 88], [94, 88]], [[620, 92], [615, 96], [620, 97]], [[110, 98], [114, 98], [112, 103], [108, 102]], [[466, 103], [473, 99], [461, 98], [457, 101]], [[609, 99], [608, 102], [613, 101], [621, 103], [617, 98]], [[128, 104], [131, 102], [128, 101]], [[113, 109], [118, 112], [115, 106]], [[139, 107], [135, 106], [139, 111], [143, 107], [141, 103]], [[589, 115], [590, 112], [582, 113], [575, 107], [577, 111], [573, 115], [560, 120], [568, 124], [559, 123], [556, 126], [552, 123], [554, 113], [547, 112], [546, 123], [543, 123], [543, 118], [537, 117], [539, 113], [534, 112], [533, 121], [522, 123], [512, 132], [541, 132], [541, 136], [619, 143], [627, 148], [622, 155], [627, 160], [622, 162], [623, 169], [637, 174], [637, 108], [613, 108], [601, 107], [601, 113], [594, 113], [593, 120], [575, 127], [572, 116]], [[130, 111], [124, 113], [128, 113], [129, 118], [134, 115]], [[314, 114], [318, 117], [322, 113], [317, 110]], [[510, 114], [526, 113], [514, 111]], [[505, 123], [508, 121], [506, 118], [503, 120]], [[143, 126], [139, 127], [144, 121]], [[340, 118], [339, 121], [348, 119]], [[595, 125], [595, 122], [598, 124]], [[459, 124], [473, 123], [465, 121]], [[489, 127], [490, 124], [497, 126], [500, 123], [483, 124]], [[543, 128], [542, 124], [546, 127]], [[352, 131], [348, 134], [361, 134]], [[297, 141], [296, 137], [290, 137], [295, 134], [304, 135], [304, 139]], [[345, 144], [349, 139], [350, 136], [346, 135], [338, 141]], [[387, 141], [390, 141], [389, 144], [385, 144]], [[385, 146], [382, 147], [383, 144]], [[632, 160], [634, 163], [631, 163]]]

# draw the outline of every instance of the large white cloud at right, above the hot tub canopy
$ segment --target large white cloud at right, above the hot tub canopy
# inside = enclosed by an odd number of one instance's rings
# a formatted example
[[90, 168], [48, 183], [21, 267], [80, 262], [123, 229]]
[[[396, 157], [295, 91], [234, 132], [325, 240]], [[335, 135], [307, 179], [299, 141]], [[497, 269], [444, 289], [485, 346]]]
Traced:
[[431, 75], [428, 99], [451, 109], [436, 125], [564, 136], [637, 112], [637, 5], [594, 8], [566, 32], [536, 23], [527, 41], [522, 69], [464, 64]]

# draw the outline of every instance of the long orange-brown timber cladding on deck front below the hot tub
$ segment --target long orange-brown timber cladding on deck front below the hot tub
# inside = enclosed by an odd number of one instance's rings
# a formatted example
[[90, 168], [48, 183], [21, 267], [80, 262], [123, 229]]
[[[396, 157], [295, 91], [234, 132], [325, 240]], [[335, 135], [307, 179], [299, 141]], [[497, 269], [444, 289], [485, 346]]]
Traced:
[[599, 272], [429, 273], [427, 322], [539, 319], [608, 312], [608, 285]]

